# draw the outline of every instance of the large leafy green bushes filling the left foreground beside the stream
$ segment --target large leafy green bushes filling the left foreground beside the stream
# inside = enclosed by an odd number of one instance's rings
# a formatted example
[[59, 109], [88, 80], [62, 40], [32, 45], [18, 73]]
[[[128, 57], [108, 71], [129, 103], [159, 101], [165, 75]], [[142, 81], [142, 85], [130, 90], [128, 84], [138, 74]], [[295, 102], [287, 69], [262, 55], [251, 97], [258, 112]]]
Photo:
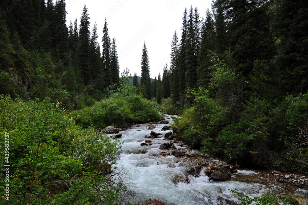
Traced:
[[10, 204], [118, 204], [126, 192], [115, 167], [121, 141], [75, 125], [59, 104], [0, 96], [0, 129]]

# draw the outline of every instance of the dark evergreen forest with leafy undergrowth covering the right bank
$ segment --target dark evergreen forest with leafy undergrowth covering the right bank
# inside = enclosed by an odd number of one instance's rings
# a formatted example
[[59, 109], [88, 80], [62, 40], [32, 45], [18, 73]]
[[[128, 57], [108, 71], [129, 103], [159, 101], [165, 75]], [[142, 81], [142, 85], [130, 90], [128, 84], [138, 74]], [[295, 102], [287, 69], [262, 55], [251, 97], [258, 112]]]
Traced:
[[225, 160], [307, 172], [307, 13], [303, 0], [213, 0], [202, 19], [185, 8], [152, 92], [169, 112], [185, 108], [175, 125], [184, 141]]

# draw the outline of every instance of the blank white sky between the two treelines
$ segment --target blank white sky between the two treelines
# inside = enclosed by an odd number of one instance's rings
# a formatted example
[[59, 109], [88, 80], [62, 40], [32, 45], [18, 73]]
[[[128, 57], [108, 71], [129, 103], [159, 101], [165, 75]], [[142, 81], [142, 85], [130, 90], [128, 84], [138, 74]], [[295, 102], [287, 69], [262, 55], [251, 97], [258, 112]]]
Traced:
[[170, 65], [171, 41], [174, 31], [181, 37], [182, 18], [185, 6], [197, 6], [200, 17], [205, 16], [207, 7], [211, 8], [211, 0], [67, 0], [67, 25], [70, 20], [78, 25], [84, 4], [86, 4], [90, 29], [96, 21], [101, 43], [105, 18], [109, 36], [116, 40], [120, 75], [128, 67], [132, 76], [134, 72], [141, 75], [141, 53], [145, 41], [149, 61], [150, 76], [154, 78], [163, 72], [163, 66]]

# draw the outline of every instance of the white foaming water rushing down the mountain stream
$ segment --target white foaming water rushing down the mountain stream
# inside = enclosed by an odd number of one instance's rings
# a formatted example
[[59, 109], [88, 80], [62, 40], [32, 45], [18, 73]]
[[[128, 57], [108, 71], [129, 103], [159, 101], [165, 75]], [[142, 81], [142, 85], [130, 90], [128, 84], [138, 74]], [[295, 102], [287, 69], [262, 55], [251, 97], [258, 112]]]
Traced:
[[[166, 120], [170, 124], [173, 123], [170, 115], [166, 115]], [[162, 134], [169, 132], [169, 130], [161, 131], [164, 126], [166, 125], [156, 125], [153, 131]], [[188, 164], [173, 155], [160, 156], [164, 150], [158, 148], [165, 142], [163, 138], [151, 139], [152, 146], [140, 146], [146, 140], [144, 136], [151, 132], [148, 127], [148, 124], [142, 124], [121, 132], [124, 144], [119, 154], [118, 166], [122, 166], [127, 171], [126, 177], [128, 177], [128, 182], [132, 182], [131, 190], [138, 195], [137, 201], [144, 203], [145, 200], [151, 198], [160, 199], [168, 205], [218, 205], [226, 204], [219, 200], [220, 197], [237, 200], [237, 196], [229, 189], [236, 188], [249, 196], [267, 192], [267, 187], [259, 183], [245, 183], [236, 180], [209, 181], [209, 177], [205, 176], [203, 171], [198, 178], [189, 175], [189, 184], [181, 182], [180, 180], [187, 175]], [[147, 150], [147, 153], [140, 154], [140, 150]], [[253, 175], [256, 172], [239, 170], [237, 174]]]

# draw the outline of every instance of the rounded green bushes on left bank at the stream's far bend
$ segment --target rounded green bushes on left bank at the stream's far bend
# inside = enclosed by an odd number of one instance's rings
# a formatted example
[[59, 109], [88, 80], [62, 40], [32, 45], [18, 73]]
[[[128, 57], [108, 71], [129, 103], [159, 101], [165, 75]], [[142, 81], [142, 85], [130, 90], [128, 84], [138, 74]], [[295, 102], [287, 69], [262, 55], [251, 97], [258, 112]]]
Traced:
[[94, 128], [104, 128], [126, 122], [141, 123], [158, 119], [159, 105], [137, 95], [136, 88], [128, 84], [129, 79], [128, 70], [124, 70], [120, 85], [114, 91], [109, 91], [109, 97], [91, 107], [73, 111], [70, 116], [84, 128], [91, 125]]

